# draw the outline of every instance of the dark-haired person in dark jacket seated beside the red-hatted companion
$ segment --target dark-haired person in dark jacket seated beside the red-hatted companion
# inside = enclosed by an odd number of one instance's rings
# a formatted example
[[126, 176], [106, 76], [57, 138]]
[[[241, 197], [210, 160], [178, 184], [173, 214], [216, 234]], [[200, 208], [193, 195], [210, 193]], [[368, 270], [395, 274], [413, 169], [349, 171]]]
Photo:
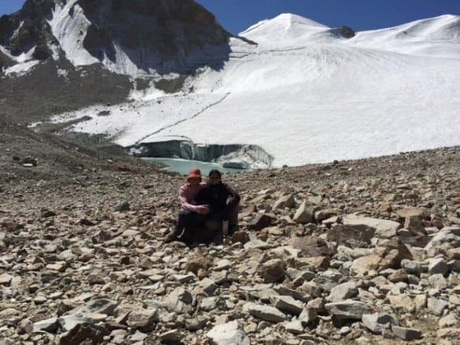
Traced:
[[215, 230], [222, 230], [223, 235], [228, 235], [238, 228], [238, 204], [241, 197], [228, 184], [223, 184], [221, 178], [219, 170], [211, 170], [208, 183], [199, 191], [197, 201], [209, 207], [206, 228], [212, 230], [214, 227]]

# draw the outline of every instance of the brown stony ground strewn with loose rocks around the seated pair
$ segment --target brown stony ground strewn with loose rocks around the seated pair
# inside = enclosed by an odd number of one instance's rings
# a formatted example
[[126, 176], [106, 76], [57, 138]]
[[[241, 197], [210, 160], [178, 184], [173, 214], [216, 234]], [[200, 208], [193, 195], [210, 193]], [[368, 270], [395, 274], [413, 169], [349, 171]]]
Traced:
[[458, 344], [459, 147], [225, 175], [190, 248], [179, 175], [12, 124], [0, 168], [1, 344]]

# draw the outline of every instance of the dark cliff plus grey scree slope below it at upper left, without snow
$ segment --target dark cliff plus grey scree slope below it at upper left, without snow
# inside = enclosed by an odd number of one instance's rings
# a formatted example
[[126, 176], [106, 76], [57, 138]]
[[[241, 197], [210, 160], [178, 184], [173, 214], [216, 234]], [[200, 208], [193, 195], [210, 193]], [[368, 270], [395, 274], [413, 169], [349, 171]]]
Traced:
[[[98, 63], [77, 69], [63, 50], [59, 50], [57, 61], [51, 58], [50, 47], [59, 48], [59, 41], [47, 20], [52, 19], [55, 6], [66, 3], [27, 0], [21, 10], [0, 17], [0, 45], [13, 56], [35, 47], [32, 58], [42, 61], [27, 75], [0, 78], [1, 116], [37, 121], [94, 103], [119, 103], [128, 97], [133, 86], [122, 71], [110, 72]], [[139, 70], [181, 75], [177, 82], [168, 81], [159, 88], [175, 92], [183, 86], [184, 75], [202, 66], [220, 69], [229, 58], [230, 34], [193, 0], [79, 0], [75, 6], [83, 9], [91, 23], [82, 33], [83, 47], [99, 61], [119, 63], [117, 46]], [[75, 7], [70, 8], [70, 17], [77, 14]], [[15, 63], [0, 52], [0, 75], [2, 68]], [[59, 76], [57, 70], [65, 70], [66, 77]], [[92, 92], [87, 92], [88, 88]]]

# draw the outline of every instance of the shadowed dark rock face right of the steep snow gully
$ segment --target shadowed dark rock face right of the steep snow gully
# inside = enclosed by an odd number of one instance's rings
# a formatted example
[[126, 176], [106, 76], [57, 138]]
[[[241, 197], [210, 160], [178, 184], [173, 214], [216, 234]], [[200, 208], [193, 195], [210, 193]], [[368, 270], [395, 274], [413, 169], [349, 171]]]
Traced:
[[222, 46], [223, 57], [212, 67], [219, 68], [228, 59], [230, 34], [193, 0], [79, 0], [78, 4], [92, 23], [84, 47], [97, 59], [105, 53], [114, 61], [114, 43], [143, 70], [171, 72], [168, 66], [179, 65], [190, 72], [187, 69], [195, 66], [190, 66], [188, 55], [207, 45]]

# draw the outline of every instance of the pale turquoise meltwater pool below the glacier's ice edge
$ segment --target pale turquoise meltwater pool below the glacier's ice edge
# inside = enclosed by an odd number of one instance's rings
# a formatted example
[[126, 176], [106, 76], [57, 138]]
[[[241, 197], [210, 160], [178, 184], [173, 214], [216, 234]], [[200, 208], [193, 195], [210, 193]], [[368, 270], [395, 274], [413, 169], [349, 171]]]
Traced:
[[242, 172], [248, 170], [242, 169], [229, 169], [229, 168], [222, 168], [221, 164], [218, 163], [210, 163], [207, 161], [190, 161], [188, 159], [176, 159], [176, 158], [143, 158], [146, 161], [154, 161], [156, 163], [161, 163], [166, 165], [163, 170], [171, 171], [171, 172], [179, 172], [179, 174], [187, 175], [191, 168], [199, 168], [201, 170], [201, 175], [207, 176], [212, 169], [217, 169], [220, 172]]

